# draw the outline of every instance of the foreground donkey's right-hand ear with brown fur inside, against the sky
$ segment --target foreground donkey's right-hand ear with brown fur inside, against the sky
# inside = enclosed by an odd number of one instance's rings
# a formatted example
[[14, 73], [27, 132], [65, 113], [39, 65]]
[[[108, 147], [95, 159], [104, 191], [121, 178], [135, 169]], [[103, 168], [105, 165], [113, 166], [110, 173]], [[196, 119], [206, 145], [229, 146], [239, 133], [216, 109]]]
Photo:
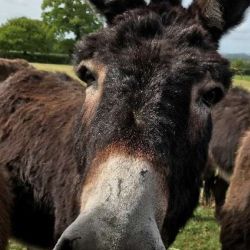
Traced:
[[250, 0], [194, 0], [190, 6], [193, 15], [218, 41], [223, 34], [240, 24]]

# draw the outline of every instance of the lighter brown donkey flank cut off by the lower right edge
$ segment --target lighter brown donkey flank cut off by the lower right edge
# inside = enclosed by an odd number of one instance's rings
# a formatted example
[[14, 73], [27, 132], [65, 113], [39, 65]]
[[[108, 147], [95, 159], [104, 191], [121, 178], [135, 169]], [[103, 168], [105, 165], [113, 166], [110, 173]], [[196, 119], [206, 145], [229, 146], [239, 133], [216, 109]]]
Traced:
[[250, 249], [250, 132], [245, 133], [221, 212], [223, 250]]

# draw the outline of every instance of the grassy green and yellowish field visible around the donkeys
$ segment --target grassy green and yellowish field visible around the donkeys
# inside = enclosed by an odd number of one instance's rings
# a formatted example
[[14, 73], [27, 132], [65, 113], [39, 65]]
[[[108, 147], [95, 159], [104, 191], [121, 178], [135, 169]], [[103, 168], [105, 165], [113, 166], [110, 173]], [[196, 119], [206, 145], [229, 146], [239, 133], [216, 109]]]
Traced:
[[[61, 71], [76, 77], [73, 68], [68, 65], [33, 64], [41, 70]], [[250, 76], [235, 76], [234, 84], [250, 89]], [[10, 250], [26, 250], [11, 242]], [[219, 250], [219, 226], [215, 222], [213, 209], [199, 207], [193, 218], [178, 235], [171, 250]]]

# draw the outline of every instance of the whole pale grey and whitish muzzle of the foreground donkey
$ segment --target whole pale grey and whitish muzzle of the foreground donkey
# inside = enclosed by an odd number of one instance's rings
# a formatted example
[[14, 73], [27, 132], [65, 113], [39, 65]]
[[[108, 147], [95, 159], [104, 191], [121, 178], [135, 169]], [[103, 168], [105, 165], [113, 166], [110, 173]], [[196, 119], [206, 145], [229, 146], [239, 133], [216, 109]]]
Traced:
[[165, 249], [160, 230], [168, 195], [152, 164], [117, 155], [98, 168], [85, 182], [80, 215], [54, 250]]

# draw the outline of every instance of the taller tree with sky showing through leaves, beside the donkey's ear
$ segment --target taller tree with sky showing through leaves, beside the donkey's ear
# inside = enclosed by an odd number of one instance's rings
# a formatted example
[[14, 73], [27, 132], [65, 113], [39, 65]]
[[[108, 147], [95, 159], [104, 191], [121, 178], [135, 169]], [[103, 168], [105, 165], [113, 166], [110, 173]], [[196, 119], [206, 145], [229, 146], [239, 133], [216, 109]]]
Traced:
[[43, 0], [43, 20], [54, 26], [57, 35], [73, 33], [76, 40], [102, 26], [100, 18], [84, 0]]

